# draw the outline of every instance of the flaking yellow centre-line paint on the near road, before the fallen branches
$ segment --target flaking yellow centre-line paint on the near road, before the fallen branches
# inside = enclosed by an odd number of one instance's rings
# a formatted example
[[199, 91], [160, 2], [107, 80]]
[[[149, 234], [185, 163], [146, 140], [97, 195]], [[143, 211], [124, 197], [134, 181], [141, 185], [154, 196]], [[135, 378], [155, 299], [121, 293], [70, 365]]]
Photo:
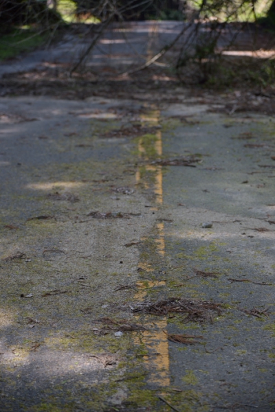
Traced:
[[[142, 120], [150, 126], [156, 126], [159, 122], [159, 111], [151, 110], [147, 115], [143, 115]], [[157, 131], [157, 133], [155, 133], [155, 139], [153, 139], [153, 149], [159, 157], [162, 156], [162, 133], [160, 131]], [[144, 148], [144, 141], [142, 137], [140, 138], [140, 141], [138, 143], [138, 150], [139, 156], [142, 157], [145, 161], [148, 161], [149, 159], [146, 158], [146, 150]], [[155, 193], [155, 203], [157, 205], [162, 205], [162, 166], [145, 165], [145, 168], [146, 171], [154, 172], [155, 181], [153, 184], [153, 191]], [[140, 170], [137, 170], [135, 178], [136, 183], [141, 182]], [[149, 185], [149, 183], [146, 183], [144, 181], [142, 181], [142, 184], [144, 185], [144, 187], [148, 187]], [[157, 210], [157, 207], [152, 207], [151, 210]], [[155, 238], [155, 245], [157, 253], [159, 253], [161, 257], [164, 257], [164, 223], [157, 223], [156, 229], [157, 236]], [[152, 266], [147, 262], [140, 262], [139, 266], [148, 273], [153, 271]], [[164, 286], [165, 284], [166, 282], [164, 281], [137, 282], [136, 286], [138, 290], [137, 293], [135, 293], [135, 299], [137, 301], [143, 301], [146, 298], [147, 290], [149, 288]], [[149, 353], [153, 353], [153, 356], [144, 357], [144, 362], [146, 363], [146, 367], [149, 371], [149, 382], [156, 383], [161, 387], [167, 387], [170, 385], [168, 340], [166, 339], [164, 332], [162, 332], [167, 327], [167, 320], [166, 318], [157, 319], [156, 321], [154, 321], [154, 323], [156, 328], [153, 333], [151, 331], [142, 332], [142, 343], [144, 343], [145, 347], [148, 348]], [[140, 341], [136, 339], [135, 344], [139, 345]]]

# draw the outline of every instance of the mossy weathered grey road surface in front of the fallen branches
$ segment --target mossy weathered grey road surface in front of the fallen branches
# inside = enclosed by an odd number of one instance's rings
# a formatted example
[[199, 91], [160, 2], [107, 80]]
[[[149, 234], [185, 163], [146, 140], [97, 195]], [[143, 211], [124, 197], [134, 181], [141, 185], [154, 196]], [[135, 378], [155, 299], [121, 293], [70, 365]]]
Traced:
[[274, 118], [156, 100], [0, 100], [1, 411], [274, 410]]

